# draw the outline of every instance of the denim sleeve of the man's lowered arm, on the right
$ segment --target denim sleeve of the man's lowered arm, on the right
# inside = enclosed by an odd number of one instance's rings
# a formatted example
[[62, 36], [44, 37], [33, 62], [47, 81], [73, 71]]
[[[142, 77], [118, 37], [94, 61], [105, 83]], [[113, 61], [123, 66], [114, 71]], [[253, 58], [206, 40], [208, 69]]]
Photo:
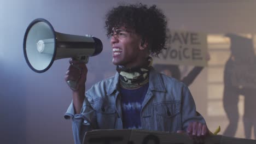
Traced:
[[182, 92], [182, 130], [187, 130], [190, 122], [206, 124], [205, 119], [196, 111], [194, 99], [187, 86], [184, 85]]

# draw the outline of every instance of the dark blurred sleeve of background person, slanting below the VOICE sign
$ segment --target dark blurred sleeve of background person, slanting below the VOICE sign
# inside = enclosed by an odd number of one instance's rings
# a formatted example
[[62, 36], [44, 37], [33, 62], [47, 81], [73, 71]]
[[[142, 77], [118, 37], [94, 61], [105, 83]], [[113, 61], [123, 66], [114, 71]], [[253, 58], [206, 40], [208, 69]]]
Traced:
[[195, 80], [196, 76], [200, 74], [203, 67], [194, 67], [187, 76], [185, 76], [181, 81], [185, 83], [185, 85], [189, 86]]

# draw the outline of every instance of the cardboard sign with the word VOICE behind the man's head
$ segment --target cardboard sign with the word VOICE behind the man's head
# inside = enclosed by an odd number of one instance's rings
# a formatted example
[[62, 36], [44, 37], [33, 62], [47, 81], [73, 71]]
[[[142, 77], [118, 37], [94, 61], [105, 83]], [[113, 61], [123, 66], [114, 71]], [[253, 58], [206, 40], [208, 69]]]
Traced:
[[206, 66], [207, 35], [199, 32], [168, 31], [166, 50], [153, 57], [154, 64]]

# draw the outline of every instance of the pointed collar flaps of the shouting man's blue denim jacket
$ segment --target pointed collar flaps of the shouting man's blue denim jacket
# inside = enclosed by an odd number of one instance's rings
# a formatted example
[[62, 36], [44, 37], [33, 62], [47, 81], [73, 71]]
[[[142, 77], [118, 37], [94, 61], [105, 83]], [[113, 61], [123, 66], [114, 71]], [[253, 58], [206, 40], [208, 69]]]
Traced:
[[[119, 73], [115, 73], [113, 81], [110, 83], [107, 95], [118, 91]], [[152, 67], [149, 72], [149, 88], [150, 91], [166, 92], [160, 74]]]

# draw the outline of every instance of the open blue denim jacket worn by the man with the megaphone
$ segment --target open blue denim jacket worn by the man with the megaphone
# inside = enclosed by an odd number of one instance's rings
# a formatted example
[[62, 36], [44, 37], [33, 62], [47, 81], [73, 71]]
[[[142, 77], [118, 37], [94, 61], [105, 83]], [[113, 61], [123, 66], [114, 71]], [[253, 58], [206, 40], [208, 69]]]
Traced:
[[[119, 74], [102, 80], [86, 93], [82, 110], [74, 114], [73, 101], [65, 113], [72, 118], [75, 143], [82, 143], [85, 132], [92, 129], [122, 129], [122, 110], [118, 86]], [[196, 112], [194, 99], [184, 83], [150, 69], [149, 87], [141, 109], [144, 130], [187, 130], [190, 122], [205, 123]]]

